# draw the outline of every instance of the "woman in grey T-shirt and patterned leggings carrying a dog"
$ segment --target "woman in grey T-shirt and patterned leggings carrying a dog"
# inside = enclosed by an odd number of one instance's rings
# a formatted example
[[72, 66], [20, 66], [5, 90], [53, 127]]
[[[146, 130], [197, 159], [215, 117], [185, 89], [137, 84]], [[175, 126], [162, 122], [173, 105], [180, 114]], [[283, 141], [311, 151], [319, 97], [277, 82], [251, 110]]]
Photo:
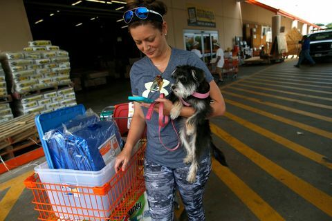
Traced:
[[[214, 100], [212, 116], [225, 112], [225, 103], [221, 92], [213, 81], [212, 75], [203, 61], [194, 53], [171, 48], [167, 44], [167, 23], [163, 20], [167, 8], [162, 1], [127, 1], [127, 12], [124, 12], [124, 22], [129, 25], [129, 32], [136, 46], [146, 57], [140, 59], [131, 68], [131, 91], [133, 96], [143, 96], [163, 103], [164, 115], [169, 115], [172, 102], [167, 99], [171, 92], [172, 72], [178, 65], [192, 65], [205, 71], [205, 77], [210, 82], [210, 97]], [[164, 93], [166, 98], [160, 98]], [[181, 194], [188, 218], [190, 220], [205, 220], [203, 211], [203, 189], [211, 171], [209, 148], [204, 148], [201, 154], [200, 167], [196, 182], [186, 181], [190, 165], [183, 163], [185, 151], [182, 146], [175, 151], [169, 151], [165, 146], [173, 148], [178, 144], [176, 133], [178, 121], [160, 128], [158, 135], [158, 108], [156, 104], [150, 120], [145, 120], [150, 104], [134, 102], [135, 112], [131, 119], [131, 128], [123, 151], [116, 159], [115, 168], [118, 172], [126, 168], [133, 146], [140, 139], [145, 124], [147, 124], [147, 150], [145, 152], [145, 185], [149, 211], [152, 220], [173, 220], [173, 196], [177, 188]], [[194, 110], [183, 107], [181, 116], [190, 117]], [[161, 144], [161, 142], [163, 144]], [[164, 146], [165, 145], [165, 146]]]

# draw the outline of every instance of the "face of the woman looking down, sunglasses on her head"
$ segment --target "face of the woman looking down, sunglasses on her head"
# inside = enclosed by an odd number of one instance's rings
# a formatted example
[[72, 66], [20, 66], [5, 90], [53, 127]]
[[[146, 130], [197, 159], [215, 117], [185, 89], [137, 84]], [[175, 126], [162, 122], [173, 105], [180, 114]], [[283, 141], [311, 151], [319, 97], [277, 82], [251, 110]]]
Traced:
[[163, 55], [167, 41], [165, 39], [167, 27], [163, 24], [163, 31], [154, 28], [151, 24], [130, 28], [129, 32], [137, 48], [143, 52], [149, 59], [154, 59]]

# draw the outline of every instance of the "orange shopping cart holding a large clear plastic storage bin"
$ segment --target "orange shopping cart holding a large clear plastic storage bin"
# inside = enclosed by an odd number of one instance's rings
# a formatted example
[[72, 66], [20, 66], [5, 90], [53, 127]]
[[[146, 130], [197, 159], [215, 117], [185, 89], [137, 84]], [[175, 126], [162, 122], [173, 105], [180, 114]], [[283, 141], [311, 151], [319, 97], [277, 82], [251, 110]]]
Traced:
[[[119, 110], [115, 108], [114, 113]], [[120, 131], [126, 129], [120, 128]], [[39, 212], [38, 220], [127, 220], [128, 211], [145, 191], [145, 145], [146, 140], [141, 139], [127, 169], [119, 173], [114, 173], [114, 163], [107, 164], [101, 171], [75, 173], [35, 168], [35, 173], [24, 184], [33, 192], [32, 202]], [[105, 180], [110, 174], [111, 178]]]

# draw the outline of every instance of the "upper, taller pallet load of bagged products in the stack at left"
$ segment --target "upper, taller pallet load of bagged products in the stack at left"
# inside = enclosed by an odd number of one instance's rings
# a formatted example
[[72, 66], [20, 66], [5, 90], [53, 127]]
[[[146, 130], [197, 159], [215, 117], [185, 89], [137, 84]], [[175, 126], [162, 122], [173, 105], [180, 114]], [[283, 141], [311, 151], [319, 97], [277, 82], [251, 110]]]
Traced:
[[71, 84], [68, 52], [50, 41], [29, 41], [23, 52], [5, 52], [2, 61], [11, 93], [24, 94]]

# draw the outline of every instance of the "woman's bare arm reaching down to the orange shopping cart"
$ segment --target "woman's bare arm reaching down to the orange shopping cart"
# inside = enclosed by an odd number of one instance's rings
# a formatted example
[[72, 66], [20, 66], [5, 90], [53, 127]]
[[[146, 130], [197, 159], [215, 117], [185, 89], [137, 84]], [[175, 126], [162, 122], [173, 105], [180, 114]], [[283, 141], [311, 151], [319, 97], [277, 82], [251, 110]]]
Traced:
[[131, 158], [133, 146], [135, 146], [138, 140], [140, 140], [140, 137], [142, 137], [142, 133], [145, 128], [145, 117], [142, 108], [137, 102], [133, 102], [133, 104], [135, 111], [133, 112], [133, 117], [131, 118], [127, 141], [121, 153], [116, 157], [116, 163], [114, 164], [116, 173], [118, 173], [120, 167], [122, 171], [126, 169], [127, 164]]

